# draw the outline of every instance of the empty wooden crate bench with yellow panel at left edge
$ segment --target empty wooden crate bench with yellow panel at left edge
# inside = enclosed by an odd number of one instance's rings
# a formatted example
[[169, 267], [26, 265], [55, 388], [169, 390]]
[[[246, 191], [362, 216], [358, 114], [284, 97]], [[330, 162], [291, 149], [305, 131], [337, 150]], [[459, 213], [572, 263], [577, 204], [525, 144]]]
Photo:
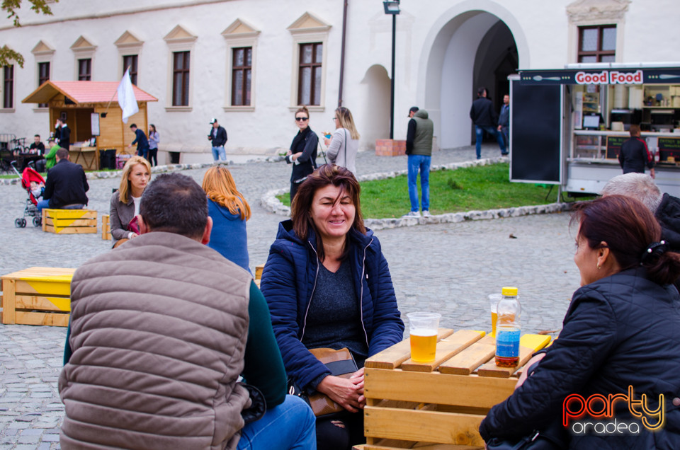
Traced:
[[75, 269], [29, 267], [0, 277], [2, 323], [69, 325]]

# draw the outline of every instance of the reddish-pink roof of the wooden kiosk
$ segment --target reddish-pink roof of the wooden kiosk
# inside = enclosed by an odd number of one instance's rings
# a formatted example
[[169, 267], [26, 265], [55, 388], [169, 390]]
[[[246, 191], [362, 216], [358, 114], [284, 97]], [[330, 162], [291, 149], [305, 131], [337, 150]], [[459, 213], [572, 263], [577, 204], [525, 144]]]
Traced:
[[[81, 103], [118, 102], [118, 81], [45, 81], [24, 98], [22, 103], [47, 103], [58, 95], [65, 96], [76, 105]], [[138, 102], [157, 102], [158, 99], [135, 85]]]

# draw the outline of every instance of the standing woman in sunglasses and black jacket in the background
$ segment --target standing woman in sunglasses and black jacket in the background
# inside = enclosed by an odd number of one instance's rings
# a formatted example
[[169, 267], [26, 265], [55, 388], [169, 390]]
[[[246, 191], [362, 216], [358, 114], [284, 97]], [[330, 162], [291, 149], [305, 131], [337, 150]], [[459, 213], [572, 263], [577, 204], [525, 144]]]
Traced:
[[317, 168], [319, 144], [319, 137], [310, 128], [310, 112], [304, 106], [295, 111], [295, 125], [298, 131], [285, 156], [285, 162], [293, 164], [293, 173], [290, 174], [290, 204], [293, 204], [300, 184]]

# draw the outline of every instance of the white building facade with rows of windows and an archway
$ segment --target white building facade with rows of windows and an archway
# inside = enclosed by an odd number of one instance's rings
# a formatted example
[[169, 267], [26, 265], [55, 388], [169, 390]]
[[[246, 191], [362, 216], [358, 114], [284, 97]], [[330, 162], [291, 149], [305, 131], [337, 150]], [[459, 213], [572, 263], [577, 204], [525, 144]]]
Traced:
[[[21, 28], [0, 22], [0, 46], [25, 58], [23, 68], [0, 72], [0, 133], [52, 131], [47, 108], [21, 103], [42, 81], [118, 81], [132, 67], [133, 82], [159, 99], [148, 117], [161, 134], [161, 163], [167, 151], [180, 152], [181, 162], [210, 161], [212, 117], [227, 129], [227, 151], [287, 149], [301, 103], [316, 132], [332, 130], [341, 102], [353, 113], [361, 149], [389, 137], [392, 19], [380, 0], [61, 0], [50, 7], [53, 16], [23, 8]], [[680, 60], [677, 0], [402, 0], [400, 8], [395, 139], [404, 139], [408, 110], [418, 105], [429, 111], [442, 148], [473, 142], [468, 112], [477, 87], [486, 86], [500, 108], [507, 76], [518, 69]]]

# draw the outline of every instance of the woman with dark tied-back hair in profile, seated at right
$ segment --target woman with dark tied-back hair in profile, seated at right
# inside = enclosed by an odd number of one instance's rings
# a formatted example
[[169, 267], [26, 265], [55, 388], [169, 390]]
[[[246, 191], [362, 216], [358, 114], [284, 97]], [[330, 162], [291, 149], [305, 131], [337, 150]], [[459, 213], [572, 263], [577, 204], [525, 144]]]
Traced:
[[[669, 284], [680, 254], [629, 197], [577, 204], [574, 221], [582, 287], [560, 337], [529, 363], [531, 376], [492, 408], [480, 434], [487, 444], [538, 431], [570, 449], [680, 449], [680, 295]], [[624, 432], [599, 432], [613, 420], [625, 422]]]

